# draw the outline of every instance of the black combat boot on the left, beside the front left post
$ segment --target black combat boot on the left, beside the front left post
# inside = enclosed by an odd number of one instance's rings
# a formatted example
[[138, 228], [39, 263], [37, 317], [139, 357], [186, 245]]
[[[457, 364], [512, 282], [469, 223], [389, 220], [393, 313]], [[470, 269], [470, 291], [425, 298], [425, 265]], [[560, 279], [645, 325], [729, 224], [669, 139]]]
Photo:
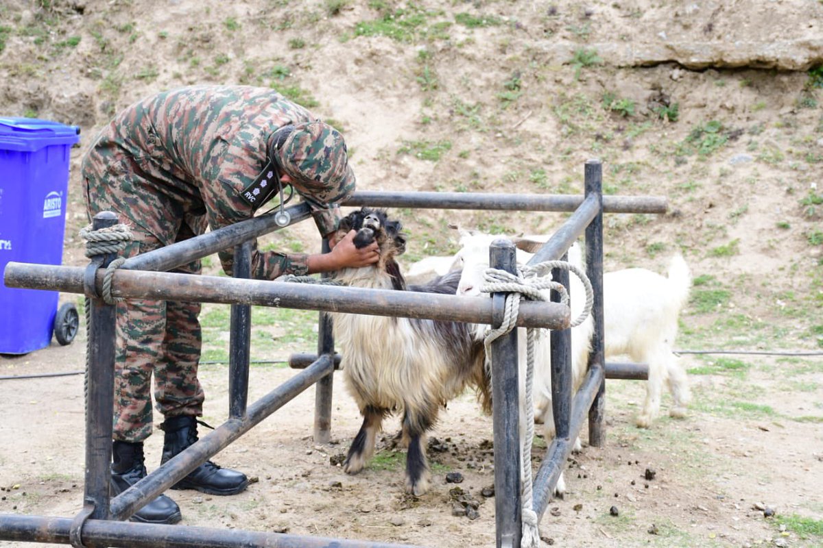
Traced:
[[[146, 477], [143, 444], [115, 440], [112, 446], [112, 457], [114, 463], [111, 465], [109, 492], [114, 497]], [[181, 517], [177, 503], [166, 495], [160, 495], [133, 513], [131, 520], [142, 523], [170, 524], [179, 522]]]

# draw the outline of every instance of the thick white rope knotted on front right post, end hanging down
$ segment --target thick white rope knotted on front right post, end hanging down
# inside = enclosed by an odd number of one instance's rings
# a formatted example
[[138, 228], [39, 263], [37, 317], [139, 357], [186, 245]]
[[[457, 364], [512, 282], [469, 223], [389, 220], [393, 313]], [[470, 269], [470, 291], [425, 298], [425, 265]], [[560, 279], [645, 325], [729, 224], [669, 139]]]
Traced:
[[[528, 298], [532, 301], [546, 301], [546, 296], [542, 293], [544, 289], [553, 289], [560, 293], [560, 302], [569, 304], [569, 292], [562, 283], [551, 280], [551, 269], [566, 269], [573, 272], [581, 282], [586, 291], [586, 305], [584, 311], [578, 318], [573, 320], [570, 327], [580, 325], [592, 310], [593, 290], [592, 284], [588, 281], [586, 274], [574, 265], [562, 260], [550, 260], [532, 267], [525, 267], [518, 275], [510, 274], [505, 270], [487, 269], [484, 274], [486, 283], [481, 288], [481, 292], [508, 292], [504, 302], [504, 316], [500, 327], [487, 329], [483, 346], [486, 348], [486, 357], [491, 361], [491, 343], [500, 336], [509, 333], [514, 329], [520, 309], [520, 299]], [[549, 274], [549, 278], [545, 277]], [[540, 277], [543, 275], [544, 277]], [[537, 548], [540, 546], [540, 527], [537, 523], [537, 513], [532, 508], [532, 440], [534, 438], [534, 402], [532, 398], [532, 385], [534, 384], [534, 340], [535, 329], [527, 330], [526, 343], [526, 391], [525, 406], [526, 411], [526, 435], [521, 447], [520, 463], [520, 505], [523, 520], [523, 533], [520, 542], [521, 548]]]

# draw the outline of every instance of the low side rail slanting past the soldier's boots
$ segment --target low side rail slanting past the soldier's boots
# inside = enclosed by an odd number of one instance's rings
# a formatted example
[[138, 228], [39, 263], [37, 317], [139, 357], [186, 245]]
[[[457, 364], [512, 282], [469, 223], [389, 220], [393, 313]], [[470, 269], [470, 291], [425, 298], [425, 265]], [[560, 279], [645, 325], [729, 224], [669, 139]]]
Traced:
[[112, 519], [127, 519], [137, 510], [154, 500], [157, 495], [188, 475], [188, 472], [206, 462], [208, 458], [217, 454], [241, 435], [258, 425], [263, 419], [271, 415], [286, 403], [289, 403], [298, 394], [317, 380], [331, 373], [332, 360], [323, 356], [315, 361], [305, 371], [300, 371], [282, 385], [258, 399], [247, 409], [246, 416], [230, 418], [214, 431], [204, 435], [182, 453], [171, 458], [167, 463], [151, 472], [133, 486], [124, 490], [111, 501]]

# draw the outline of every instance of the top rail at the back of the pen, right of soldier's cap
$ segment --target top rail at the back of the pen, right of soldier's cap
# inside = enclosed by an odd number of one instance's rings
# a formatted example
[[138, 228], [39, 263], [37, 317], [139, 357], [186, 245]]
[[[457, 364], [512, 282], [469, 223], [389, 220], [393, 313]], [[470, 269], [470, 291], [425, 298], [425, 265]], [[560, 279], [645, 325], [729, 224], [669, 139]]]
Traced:
[[[566, 194], [357, 191], [342, 205], [433, 210], [574, 211], [582, 203], [582, 195]], [[660, 196], [603, 196], [603, 212], [666, 213], [667, 203], [666, 198]]]

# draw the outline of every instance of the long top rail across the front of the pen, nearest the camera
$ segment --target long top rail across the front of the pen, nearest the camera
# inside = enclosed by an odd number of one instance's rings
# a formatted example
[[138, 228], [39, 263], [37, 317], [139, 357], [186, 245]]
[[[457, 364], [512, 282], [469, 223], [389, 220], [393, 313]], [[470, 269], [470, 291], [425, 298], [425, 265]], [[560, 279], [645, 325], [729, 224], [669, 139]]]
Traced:
[[[81, 267], [73, 266], [10, 262], [6, 266], [5, 282], [9, 288], [82, 293], [84, 271]], [[95, 286], [98, 290], [103, 287], [103, 276], [104, 272], [97, 272]], [[491, 299], [486, 297], [232, 279], [199, 274], [117, 270], [112, 280], [112, 294], [114, 297], [157, 301], [219, 302], [490, 325], [493, 323]], [[569, 308], [558, 303], [523, 302], [520, 304], [517, 325], [565, 329], [569, 326], [569, 315]]]

